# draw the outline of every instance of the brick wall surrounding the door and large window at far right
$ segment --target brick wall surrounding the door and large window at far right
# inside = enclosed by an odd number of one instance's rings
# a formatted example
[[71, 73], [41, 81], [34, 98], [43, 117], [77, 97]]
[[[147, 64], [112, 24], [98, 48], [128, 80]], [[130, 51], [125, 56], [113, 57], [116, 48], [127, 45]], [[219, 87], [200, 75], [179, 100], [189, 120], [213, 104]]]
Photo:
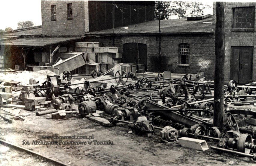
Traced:
[[[226, 2], [225, 3], [225, 81], [229, 81], [231, 70], [231, 47], [232, 46], [253, 46], [253, 66], [252, 79], [256, 79], [256, 41], [254, 31], [245, 31], [241, 28], [238, 30], [232, 29], [233, 8], [234, 7], [251, 7], [255, 6], [255, 2]], [[215, 2], [213, 2], [213, 31], [215, 32]], [[256, 18], [254, 18], [256, 19]], [[254, 27], [256, 21], [254, 21]]]

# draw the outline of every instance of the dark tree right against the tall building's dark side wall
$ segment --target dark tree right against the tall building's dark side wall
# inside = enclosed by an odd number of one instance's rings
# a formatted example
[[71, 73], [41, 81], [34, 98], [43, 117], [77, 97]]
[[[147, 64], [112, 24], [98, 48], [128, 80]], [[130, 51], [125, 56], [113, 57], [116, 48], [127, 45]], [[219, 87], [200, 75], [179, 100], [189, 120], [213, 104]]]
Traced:
[[170, 15], [170, 1], [155, 1], [155, 20], [168, 20]]

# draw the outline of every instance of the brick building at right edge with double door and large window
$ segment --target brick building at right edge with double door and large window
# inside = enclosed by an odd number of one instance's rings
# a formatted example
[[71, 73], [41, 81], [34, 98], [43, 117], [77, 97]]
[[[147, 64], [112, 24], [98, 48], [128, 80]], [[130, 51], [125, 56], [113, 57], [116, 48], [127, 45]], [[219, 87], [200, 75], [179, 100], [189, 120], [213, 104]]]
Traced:
[[[255, 2], [225, 3], [225, 80], [256, 79]], [[215, 29], [215, 3], [213, 4]], [[215, 30], [213, 31], [215, 32]]]

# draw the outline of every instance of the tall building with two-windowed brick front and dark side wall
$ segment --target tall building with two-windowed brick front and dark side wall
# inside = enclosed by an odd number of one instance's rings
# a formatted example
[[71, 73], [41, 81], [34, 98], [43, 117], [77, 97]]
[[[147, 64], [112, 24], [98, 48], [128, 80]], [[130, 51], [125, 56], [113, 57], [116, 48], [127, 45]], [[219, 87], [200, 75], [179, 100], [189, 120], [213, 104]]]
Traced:
[[[137, 10], [133, 10], [136, 8]], [[41, 1], [48, 36], [84, 33], [154, 20], [154, 1]]]

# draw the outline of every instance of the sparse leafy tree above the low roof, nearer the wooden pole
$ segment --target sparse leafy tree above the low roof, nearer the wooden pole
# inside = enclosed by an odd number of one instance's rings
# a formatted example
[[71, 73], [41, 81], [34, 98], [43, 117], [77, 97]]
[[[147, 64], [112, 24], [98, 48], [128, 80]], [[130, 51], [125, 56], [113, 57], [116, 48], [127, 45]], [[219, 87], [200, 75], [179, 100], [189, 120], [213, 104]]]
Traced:
[[203, 9], [206, 8], [211, 8], [211, 6], [195, 1], [173, 1], [170, 10], [172, 15], [178, 16], [180, 19], [191, 15], [203, 14]]

